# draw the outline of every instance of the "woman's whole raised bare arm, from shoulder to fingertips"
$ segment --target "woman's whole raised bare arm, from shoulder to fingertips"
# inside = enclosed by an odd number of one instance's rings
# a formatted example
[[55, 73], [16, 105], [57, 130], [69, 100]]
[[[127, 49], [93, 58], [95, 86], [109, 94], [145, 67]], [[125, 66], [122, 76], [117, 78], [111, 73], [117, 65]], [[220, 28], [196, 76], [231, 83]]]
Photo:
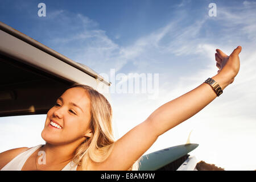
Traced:
[[[219, 70], [217, 75], [212, 78], [224, 90], [234, 81], [234, 77], [240, 69], [238, 55], [241, 52], [241, 47], [238, 46], [234, 49], [230, 56], [225, 55], [220, 49], [216, 49], [216, 51], [216, 66]], [[127, 170], [150, 148], [159, 135], [192, 117], [216, 97], [212, 87], [203, 83], [190, 92], [160, 106], [146, 121], [135, 126], [117, 140], [112, 154], [96, 169]]]

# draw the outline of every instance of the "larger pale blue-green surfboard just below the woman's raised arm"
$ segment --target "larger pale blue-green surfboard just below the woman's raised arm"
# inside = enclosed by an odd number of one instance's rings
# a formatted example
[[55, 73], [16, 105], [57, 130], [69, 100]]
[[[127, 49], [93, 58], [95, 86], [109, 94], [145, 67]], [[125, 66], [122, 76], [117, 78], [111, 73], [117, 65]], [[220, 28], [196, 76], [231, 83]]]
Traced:
[[196, 143], [181, 144], [143, 155], [140, 160], [139, 171], [155, 171], [188, 154], [197, 146], [199, 144]]

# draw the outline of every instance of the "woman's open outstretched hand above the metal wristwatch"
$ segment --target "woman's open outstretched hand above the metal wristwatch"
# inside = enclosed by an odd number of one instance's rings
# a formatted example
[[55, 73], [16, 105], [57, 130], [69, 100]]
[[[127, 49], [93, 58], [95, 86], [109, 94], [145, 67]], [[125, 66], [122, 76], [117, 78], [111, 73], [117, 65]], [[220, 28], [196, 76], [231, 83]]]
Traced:
[[216, 66], [219, 68], [217, 75], [225, 78], [226, 86], [232, 84], [240, 69], [239, 53], [241, 50], [242, 47], [238, 46], [228, 56], [220, 49], [216, 49], [217, 53], [215, 53], [215, 60], [217, 61]]

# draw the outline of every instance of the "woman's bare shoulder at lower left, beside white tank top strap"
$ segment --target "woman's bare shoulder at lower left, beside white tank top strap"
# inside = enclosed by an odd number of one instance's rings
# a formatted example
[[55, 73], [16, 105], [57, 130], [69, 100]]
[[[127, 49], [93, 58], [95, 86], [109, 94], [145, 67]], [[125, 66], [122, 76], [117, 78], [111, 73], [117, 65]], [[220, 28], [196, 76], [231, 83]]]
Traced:
[[26, 150], [28, 150], [28, 147], [20, 147], [0, 153], [0, 169], [13, 160], [17, 155]]

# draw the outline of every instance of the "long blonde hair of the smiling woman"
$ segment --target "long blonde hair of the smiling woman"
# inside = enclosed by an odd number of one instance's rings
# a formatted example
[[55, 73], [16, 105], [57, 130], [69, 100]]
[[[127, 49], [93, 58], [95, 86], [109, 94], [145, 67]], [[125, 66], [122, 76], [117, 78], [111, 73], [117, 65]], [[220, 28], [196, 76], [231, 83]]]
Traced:
[[[112, 107], [109, 101], [97, 90], [88, 85], [75, 84], [70, 88], [83, 88], [90, 96], [92, 137], [77, 147], [73, 162], [82, 170], [90, 170], [90, 162], [104, 162], [111, 154], [114, 145], [112, 128]], [[128, 170], [138, 170], [138, 160]]]

